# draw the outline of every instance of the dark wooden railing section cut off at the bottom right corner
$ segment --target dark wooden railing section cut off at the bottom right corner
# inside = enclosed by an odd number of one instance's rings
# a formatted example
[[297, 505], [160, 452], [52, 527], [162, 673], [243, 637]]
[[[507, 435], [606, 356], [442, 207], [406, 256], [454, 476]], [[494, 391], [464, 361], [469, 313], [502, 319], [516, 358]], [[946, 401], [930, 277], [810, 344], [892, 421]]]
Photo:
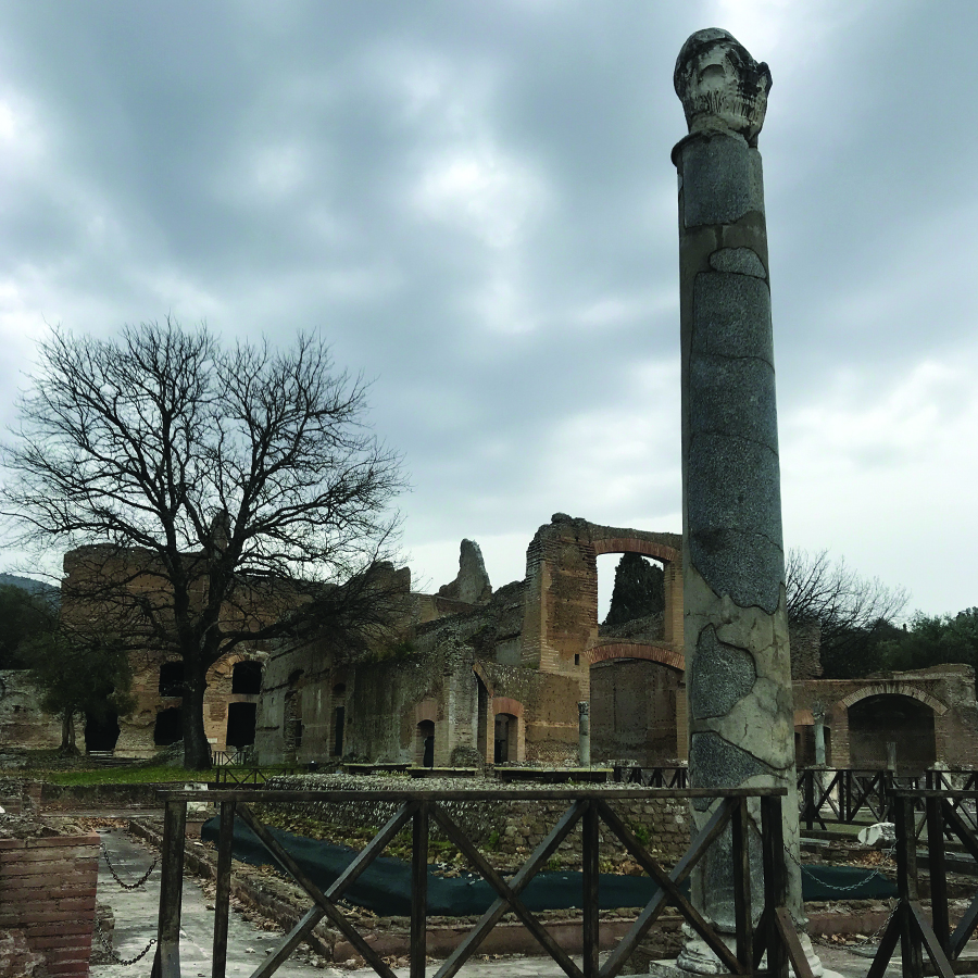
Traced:
[[[937, 772], [936, 774], [943, 774]], [[937, 779], [935, 779], [937, 780]], [[978, 801], [978, 791], [951, 789], [894, 790], [892, 811], [896, 829], [896, 888], [900, 902], [879, 942], [868, 978], [882, 978], [896, 943], [904, 978], [923, 978], [924, 950], [941, 978], [952, 978], [953, 962], [978, 926], [978, 894], [957, 926], [951, 929], [945, 866], [945, 837], [957, 838], [965, 851], [978, 861], [978, 837], [962, 813], [963, 803]], [[927, 825], [927, 863], [930, 876], [931, 919], [919, 900], [917, 878], [916, 813], [923, 808]]]

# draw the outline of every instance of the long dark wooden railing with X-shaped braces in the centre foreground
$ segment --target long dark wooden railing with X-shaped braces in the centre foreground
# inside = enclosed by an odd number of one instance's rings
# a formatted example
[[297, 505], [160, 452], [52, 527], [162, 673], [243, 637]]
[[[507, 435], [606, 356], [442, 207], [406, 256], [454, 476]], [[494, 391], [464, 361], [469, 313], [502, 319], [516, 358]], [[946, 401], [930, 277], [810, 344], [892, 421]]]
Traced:
[[[217, 842], [217, 889], [214, 899], [214, 938], [212, 978], [225, 978], [228, 933], [228, 903], [230, 895], [231, 851], [234, 824], [240, 818], [261, 839], [268, 853], [293, 877], [313, 901], [312, 907], [301, 920], [279, 941], [258, 966], [252, 978], [268, 978], [289, 954], [311, 933], [319, 920], [328, 918], [353, 945], [369, 967], [383, 978], [394, 978], [364, 937], [353, 927], [339, 901], [371, 863], [385, 850], [394, 837], [410, 825], [411, 855], [411, 978], [425, 978], [425, 951], [427, 936], [428, 836], [437, 826], [454, 843], [459, 851], [498, 894], [492, 905], [482, 914], [462, 942], [441, 964], [436, 978], [451, 978], [478, 950], [489, 931], [506, 913], [514, 913], [527, 930], [570, 978], [614, 978], [625, 966], [649, 929], [666, 906], [675, 907], [686, 924], [719, 958], [724, 969], [732, 975], [755, 974], [755, 963], [767, 955], [767, 974], [787, 978], [789, 962], [800, 978], [811, 978], [811, 969], [788, 912], [788, 867], [783, 844], [781, 807], [787, 791], [783, 788], [754, 789], [587, 789], [572, 790], [450, 790], [450, 791], [213, 791], [209, 800], [221, 808], [221, 830]], [[153, 965], [154, 978], [179, 978], [180, 888], [184, 865], [184, 833], [187, 803], [200, 801], [197, 792], [161, 791], [164, 803], [164, 830], [162, 853], [162, 880], [158, 950]], [[706, 825], [692, 840], [681, 860], [666, 872], [636, 838], [632, 831], [615, 814], [609, 802], [614, 800], [652, 798], [710, 798], [718, 800]], [[751, 865], [748, 815], [749, 800], [756, 800], [761, 812], [761, 853], [763, 860], [764, 892], [763, 912], [756, 926], [753, 924], [751, 894]], [[253, 802], [297, 804], [302, 802], [343, 803], [394, 802], [397, 813], [374, 836], [326, 890], [321, 890], [292, 856], [276, 841], [259, 820], [250, 805]], [[472, 802], [480, 804], [518, 801], [562, 801], [567, 807], [549, 835], [540, 842], [523, 866], [509, 878], [490, 866], [486, 857], [471, 841], [467, 833], [452, 818], [448, 803]], [[790, 803], [793, 804], [793, 799]], [[655, 881], [659, 889], [641, 911], [629, 931], [619, 941], [604, 964], [599, 967], [599, 850], [601, 823], [604, 831], [615, 836], [631, 857]], [[521, 894], [536, 874], [546, 866], [568, 833], [581, 826], [582, 893], [581, 935], [582, 965], [578, 965], [561, 948], [550, 931], [531, 914]], [[680, 887], [689, 878], [704, 854], [728, 829], [731, 844], [727, 850], [735, 872], [735, 946], [731, 950], [713, 926], [684, 895]]]

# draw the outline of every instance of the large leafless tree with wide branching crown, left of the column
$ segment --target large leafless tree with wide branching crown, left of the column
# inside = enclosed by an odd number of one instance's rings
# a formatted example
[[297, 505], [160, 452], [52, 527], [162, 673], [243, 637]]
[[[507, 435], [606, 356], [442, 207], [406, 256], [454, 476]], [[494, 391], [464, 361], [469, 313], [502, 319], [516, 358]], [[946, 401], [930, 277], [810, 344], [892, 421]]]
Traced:
[[184, 663], [184, 751], [210, 766], [208, 669], [243, 643], [383, 627], [399, 457], [328, 348], [225, 349], [203, 326], [55, 328], [3, 450], [8, 516], [72, 549], [63, 616]]

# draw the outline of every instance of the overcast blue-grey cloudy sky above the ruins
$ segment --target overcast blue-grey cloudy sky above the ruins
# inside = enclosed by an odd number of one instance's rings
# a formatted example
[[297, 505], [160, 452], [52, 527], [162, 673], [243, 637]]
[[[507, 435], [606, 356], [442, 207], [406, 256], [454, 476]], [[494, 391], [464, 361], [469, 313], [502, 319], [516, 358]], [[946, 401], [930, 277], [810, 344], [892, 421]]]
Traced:
[[679, 532], [672, 74], [714, 26], [774, 78], [786, 544], [978, 604], [968, 0], [2, 0], [0, 421], [47, 324], [315, 328], [415, 584], [462, 537], [522, 577], [555, 512]]

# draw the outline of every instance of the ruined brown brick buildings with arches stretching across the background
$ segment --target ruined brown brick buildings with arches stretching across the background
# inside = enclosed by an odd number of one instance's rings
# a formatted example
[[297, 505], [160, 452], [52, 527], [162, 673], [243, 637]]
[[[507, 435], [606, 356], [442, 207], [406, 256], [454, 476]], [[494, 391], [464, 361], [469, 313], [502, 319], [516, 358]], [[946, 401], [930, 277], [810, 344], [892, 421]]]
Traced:
[[[598, 620], [601, 554], [637, 553], [663, 567], [663, 611], [615, 626]], [[66, 593], [85, 553], [65, 556]], [[464, 540], [455, 580], [427, 594], [393, 570], [404, 612], [366, 656], [325, 641], [281, 651], [259, 643], [210, 670], [204, 726], [214, 751], [249, 748], [261, 763], [321, 765], [356, 757], [438, 767], [576, 764], [578, 710], [590, 702], [594, 764], [685, 761], [681, 539], [556, 514], [527, 548], [526, 576], [493, 590], [478, 546]], [[82, 613], [78, 609], [70, 613]], [[974, 670], [965, 665], [825, 680], [818, 629], [791, 631], [795, 754], [815, 761], [825, 714], [827, 763], [899, 770], [935, 761], [978, 764]], [[79, 723], [79, 745], [149, 758], [180, 738], [181, 667], [133, 656], [136, 709], [105, 728]], [[57, 748], [23, 673], [0, 674], [0, 743]]]

